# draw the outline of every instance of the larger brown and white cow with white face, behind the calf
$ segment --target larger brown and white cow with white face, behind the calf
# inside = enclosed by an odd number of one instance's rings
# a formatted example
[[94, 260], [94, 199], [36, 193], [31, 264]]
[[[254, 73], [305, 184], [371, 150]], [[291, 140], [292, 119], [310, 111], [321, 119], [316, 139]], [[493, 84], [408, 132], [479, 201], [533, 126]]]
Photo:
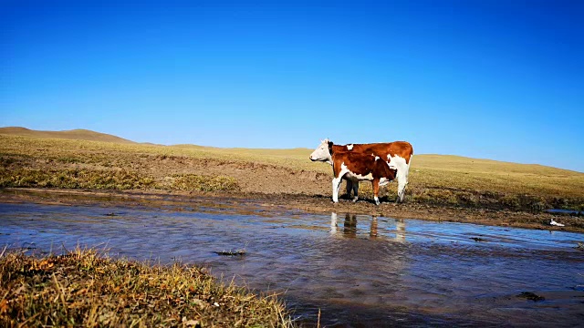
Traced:
[[[332, 141], [324, 139], [321, 141], [317, 149], [310, 155], [310, 159], [315, 161], [326, 161], [332, 164], [328, 159], [330, 151], [350, 151], [364, 154], [373, 154], [384, 159], [391, 169], [397, 169], [398, 180], [398, 197], [396, 202], [401, 202], [405, 196], [405, 187], [408, 184], [408, 176], [410, 174], [410, 163], [413, 157], [412, 145], [407, 141], [393, 141], [383, 143], [371, 144], [349, 144], [349, 145], [335, 145]], [[353, 201], [359, 198], [359, 181], [353, 183], [352, 180], [347, 179], [347, 194], [350, 191], [354, 192]]]

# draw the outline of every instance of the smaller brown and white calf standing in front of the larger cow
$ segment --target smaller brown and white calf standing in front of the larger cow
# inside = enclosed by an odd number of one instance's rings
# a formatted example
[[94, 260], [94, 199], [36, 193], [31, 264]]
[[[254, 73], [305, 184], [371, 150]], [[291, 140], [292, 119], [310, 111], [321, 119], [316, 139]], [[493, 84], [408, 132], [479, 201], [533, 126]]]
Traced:
[[[341, 179], [347, 179], [355, 184], [359, 184], [361, 180], [368, 180], [373, 184], [374, 200], [379, 205], [380, 185], [395, 179], [396, 170], [390, 169], [387, 162], [379, 156], [355, 151], [335, 151], [332, 149], [332, 145], [330, 146], [327, 151], [327, 161], [332, 164], [334, 176], [332, 179], [332, 201], [339, 202]], [[317, 155], [314, 153], [313, 155], [310, 156], [310, 159], [316, 160]]]

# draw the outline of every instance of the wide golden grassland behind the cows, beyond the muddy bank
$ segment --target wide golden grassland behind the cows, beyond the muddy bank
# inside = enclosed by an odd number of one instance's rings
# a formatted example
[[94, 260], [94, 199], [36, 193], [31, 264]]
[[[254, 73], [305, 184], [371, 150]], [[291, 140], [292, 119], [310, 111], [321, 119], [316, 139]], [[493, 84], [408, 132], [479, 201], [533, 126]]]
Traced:
[[[216, 149], [2, 134], [0, 145], [0, 187], [330, 194], [330, 167], [310, 162], [311, 149]], [[364, 197], [370, 197], [369, 184], [362, 185]], [[390, 200], [395, 189], [389, 189]], [[584, 174], [575, 171], [415, 155], [406, 198], [487, 209], [584, 210], [582, 190]]]

